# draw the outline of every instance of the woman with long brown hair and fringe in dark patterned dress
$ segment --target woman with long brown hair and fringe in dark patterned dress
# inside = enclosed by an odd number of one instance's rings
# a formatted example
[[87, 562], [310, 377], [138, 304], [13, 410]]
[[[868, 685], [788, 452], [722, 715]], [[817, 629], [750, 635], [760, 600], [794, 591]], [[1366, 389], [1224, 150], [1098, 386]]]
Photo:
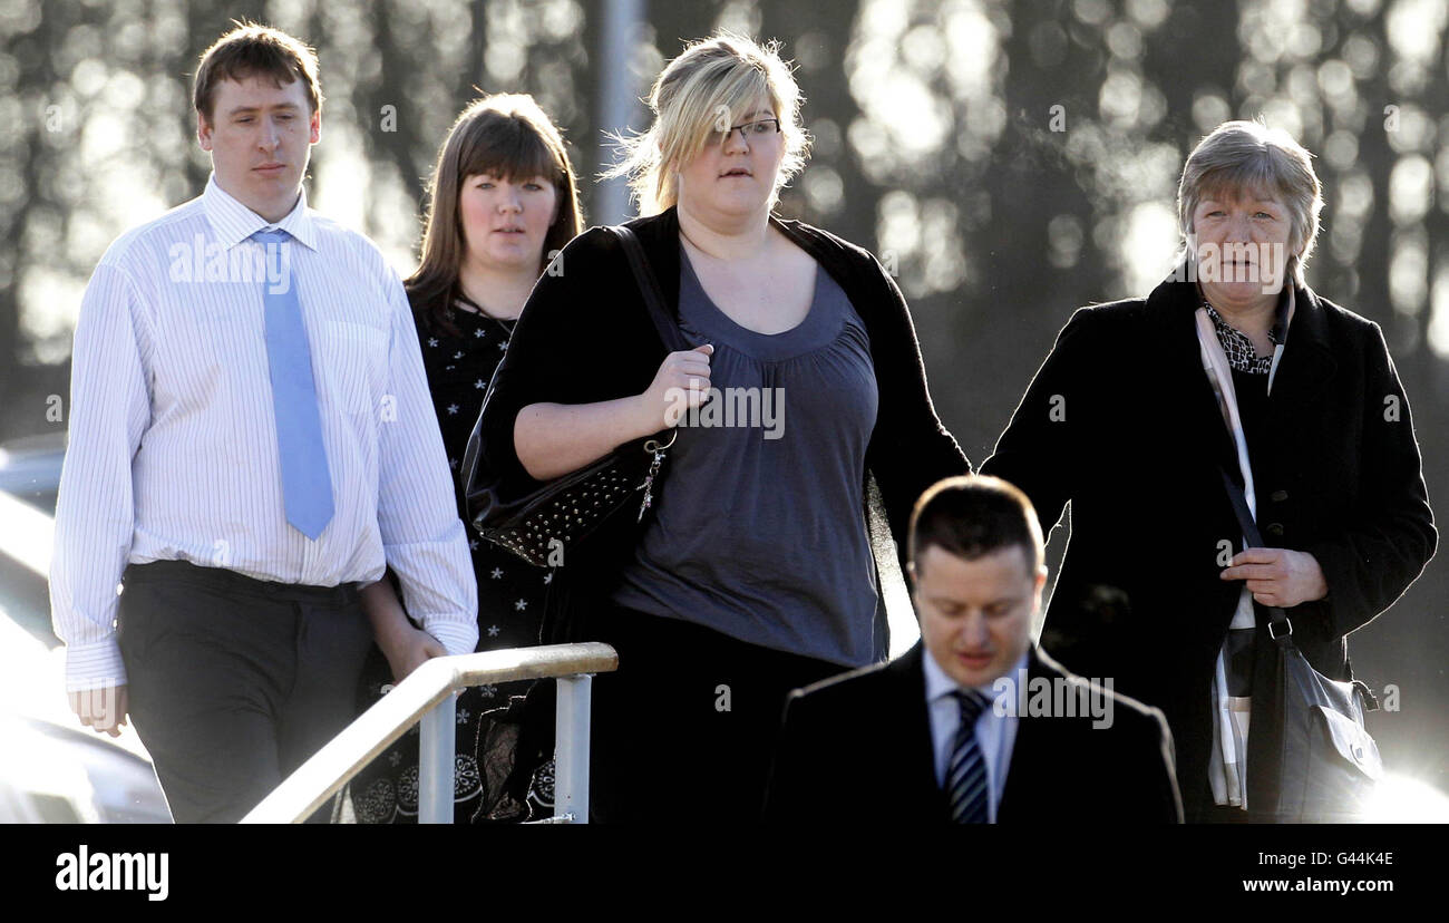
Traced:
[[[422, 264], [406, 281], [442, 429], [456, 477], [488, 381], [503, 358], [533, 283], [581, 229], [577, 181], [558, 129], [529, 96], [477, 100], [454, 123], [432, 177], [432, 207]], [[455, 484], [456, 487], [456, 484]], [[459, 497], [459, 513], [462, 500]], [[468, 522], [464, 516], [464, 522]], [[551, 574], [497, 546], [471, 539], [478, 580], [478, 651], [539, 642], [543, 590]], [[371, 706], [390, 682], [443, 655], [417, 627], [422, 613], [404, 613], [390, 580], [362, 591], [378, 649], [364, 680]], [[458, 823], [517, 820], [552, 801], [548, 767], [529, 793], [530, 809], [500, 791], [497, 746], [509, 751], [511, 729], [493, 717], [527, 684], [475, 687], [458, 700], [459, 767], [454, 804]], [[417, 816], [417, 727], [352, 781], [359, 822], [388, 823]]]

